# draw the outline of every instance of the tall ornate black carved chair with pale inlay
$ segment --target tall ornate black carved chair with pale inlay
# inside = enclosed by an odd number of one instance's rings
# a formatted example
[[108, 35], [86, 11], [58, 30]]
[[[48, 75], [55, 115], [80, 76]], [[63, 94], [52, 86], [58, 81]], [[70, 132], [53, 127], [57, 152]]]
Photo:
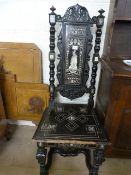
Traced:
[[[55, 14], [51, 8], [50, 22], [50, 104], [44, 111], [33, 139], [37, 142], [36, 158], [40, 164], [40, 175], [47, 175], [52, 156], [85, 155], [90, 175], [98, 175], [99, 166], [104, 161], [104, 148], [109, 143], [105, 131], [99, 123], [94, 109], [94, 95], [97, 64], [104, 24], [104, 10], [90, 18], [85, 7], [74, 5], [67, 9], [64, 16]], [[55, 87], [55, 25], [61, 24], [57, 47], [58, 85]], [[90, 69], [90, 51], [93, 36], [91, 27], [96, 25], [94, 54]], [[90, 73], [91, 72], [91, 73]], [[89, 86], [87, 86], [89, 82]], [[88, 93], [87, 104], [58, 102], [57, 95], [70, 101]], [[80, 101], [80, 100], [79, 100]]]

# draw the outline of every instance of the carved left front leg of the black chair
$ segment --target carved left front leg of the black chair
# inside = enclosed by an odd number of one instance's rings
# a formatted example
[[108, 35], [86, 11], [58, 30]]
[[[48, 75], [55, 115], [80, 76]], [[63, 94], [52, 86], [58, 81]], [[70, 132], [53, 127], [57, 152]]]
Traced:
[[36, 159], [38, 160], [38, 163], [40, 164], [40, 175], [48, 175], [48, 172], [46, 170], [46, 154], [47, 150], [44, 147], [44, 144], [41, 142], [37, 143], [37, 154]]

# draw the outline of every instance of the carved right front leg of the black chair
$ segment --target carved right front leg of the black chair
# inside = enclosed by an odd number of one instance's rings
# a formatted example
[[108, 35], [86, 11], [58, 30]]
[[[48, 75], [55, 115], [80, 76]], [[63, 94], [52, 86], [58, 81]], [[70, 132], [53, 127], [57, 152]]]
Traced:
[[89, 148], [86, 151], [86, 165], [89, 169], [89, 175], [98, 175], [99, 166], [104, 160], [103, 145], [99, 145], [96, 148]]

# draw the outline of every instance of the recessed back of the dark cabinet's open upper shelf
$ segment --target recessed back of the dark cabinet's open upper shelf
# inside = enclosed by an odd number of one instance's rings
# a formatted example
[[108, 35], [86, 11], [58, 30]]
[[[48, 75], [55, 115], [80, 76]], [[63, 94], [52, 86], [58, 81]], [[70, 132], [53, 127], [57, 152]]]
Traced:
[[129, 57], [131, 55], [131, 21], [115, 20], [110, 38], [110, 57]]

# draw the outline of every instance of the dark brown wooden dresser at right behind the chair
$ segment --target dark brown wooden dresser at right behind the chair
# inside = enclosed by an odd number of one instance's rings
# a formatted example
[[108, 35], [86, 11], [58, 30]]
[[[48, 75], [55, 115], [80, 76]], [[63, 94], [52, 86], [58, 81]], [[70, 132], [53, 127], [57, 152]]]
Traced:
[[102, 61], [97, 111], [112, 145], [107, 156], [131, 158], [131, 0], [117, 0], [110, 29], [109, 52]]

